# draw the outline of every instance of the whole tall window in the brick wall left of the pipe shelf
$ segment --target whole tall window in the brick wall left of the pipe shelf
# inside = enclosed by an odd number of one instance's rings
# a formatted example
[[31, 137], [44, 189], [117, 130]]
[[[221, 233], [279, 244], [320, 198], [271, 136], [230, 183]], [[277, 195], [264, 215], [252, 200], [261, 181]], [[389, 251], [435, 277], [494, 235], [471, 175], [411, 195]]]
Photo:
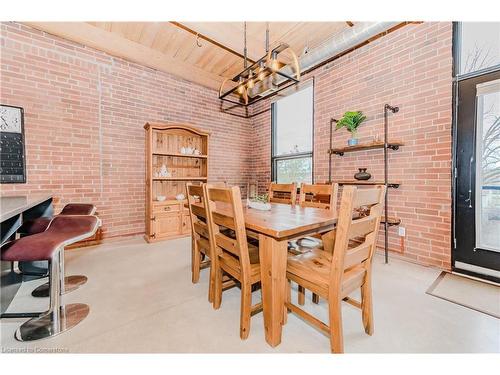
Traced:
[[313, 85], [272, 104], [272, 178], [313, 182]]

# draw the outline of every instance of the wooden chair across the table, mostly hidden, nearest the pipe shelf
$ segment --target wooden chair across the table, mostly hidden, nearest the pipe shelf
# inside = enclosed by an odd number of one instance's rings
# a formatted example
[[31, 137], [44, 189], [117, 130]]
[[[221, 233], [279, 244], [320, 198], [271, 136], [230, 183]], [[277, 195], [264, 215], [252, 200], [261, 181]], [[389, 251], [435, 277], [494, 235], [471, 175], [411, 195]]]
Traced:
[[[339, 192], [339, 185], [336, 183], [330, 184], [305, 184], [300, 185], [300, 195], [299, 195], [299, 205], [301, 207], [314, 207], [314, 208], [324, 208], [325, 210], [330, 210], [332, 213], [337, 212], [337, 196]], [[333, 233], [325, 236], [325, 241], [328, 242], [332, 240]], [[317, 239], [323, 239], [321, 233], [317, 233], [312, 236]], [[306, 238], [307, 239], [307, 238]], [[295, 252], [301, 252], [300, 242], [303, 238], [296, 241], [299, 249]], [[318, 242], [318, 247], [323, 247], [323, 242]], [[328, 244], [327, 244], [328, 247]], [[309, 249], [306, 249], [309, 251]], [[304, 249], [302, 249], [304, 252]], [[319, 303], [319, 296], [315, 293], [312, 295], [312, 301], [314, 303]], [[305, 303], [305, 289], [299, 285], [299, 295], [298, 304], [304, 305]]]

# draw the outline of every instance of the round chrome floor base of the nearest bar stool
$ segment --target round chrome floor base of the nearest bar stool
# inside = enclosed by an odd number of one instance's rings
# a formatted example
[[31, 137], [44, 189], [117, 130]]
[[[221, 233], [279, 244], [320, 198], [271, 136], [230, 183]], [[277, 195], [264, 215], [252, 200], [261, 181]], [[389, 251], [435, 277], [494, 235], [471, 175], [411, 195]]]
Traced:
[[59, 314], [54, 311], [28, 320], [17, 329], [14, 337], [18, 341], [34, 341], [56, 336], [80, 323], [89, 311], [89, 305], [83, 303], [61, 306]]

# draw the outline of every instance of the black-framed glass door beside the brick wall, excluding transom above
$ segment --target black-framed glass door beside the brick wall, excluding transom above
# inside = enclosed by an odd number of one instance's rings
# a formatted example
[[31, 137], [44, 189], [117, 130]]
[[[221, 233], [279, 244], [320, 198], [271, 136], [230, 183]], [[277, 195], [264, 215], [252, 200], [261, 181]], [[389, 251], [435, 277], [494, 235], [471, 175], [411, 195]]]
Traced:
[[454, 270], [500, 280], [500, 71], [458, 82]]

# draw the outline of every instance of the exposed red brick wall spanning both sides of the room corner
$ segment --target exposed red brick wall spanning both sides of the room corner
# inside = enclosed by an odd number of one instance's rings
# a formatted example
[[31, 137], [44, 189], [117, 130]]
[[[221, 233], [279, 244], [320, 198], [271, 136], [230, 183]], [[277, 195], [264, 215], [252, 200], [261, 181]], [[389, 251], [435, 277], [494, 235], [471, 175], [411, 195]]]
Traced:
[[[383, 106], [397, 105], [390, 151], [391, 216], [407, 230], [390, 248], [423, 264], [450, 266], [451, 23], [405, 26], [310, 73], [315, 83], [314, 177], [328, 179], [330, 117], [362, 110], [361, 140], [382, 136]], [[25, 109], [28, 183], [2, 192], [54, 194], [56, 209], [94, 202], [106, 237], [144, 231], [146, 121], [211, 131], [210, 179], [270, 181], [270, 112], [251, 120], [219, 112], [214, 91], [16, 23], [1, 24], [1, 102]], [[256, 109], [269, 108], [261, 103]], [[345, 131], [334, 145], [346, 143]], [[228, 157], [230, 155], [230, 157]], [[367, 167], [383, 178], [381, 150], [333, 158], [333, 177]]]

